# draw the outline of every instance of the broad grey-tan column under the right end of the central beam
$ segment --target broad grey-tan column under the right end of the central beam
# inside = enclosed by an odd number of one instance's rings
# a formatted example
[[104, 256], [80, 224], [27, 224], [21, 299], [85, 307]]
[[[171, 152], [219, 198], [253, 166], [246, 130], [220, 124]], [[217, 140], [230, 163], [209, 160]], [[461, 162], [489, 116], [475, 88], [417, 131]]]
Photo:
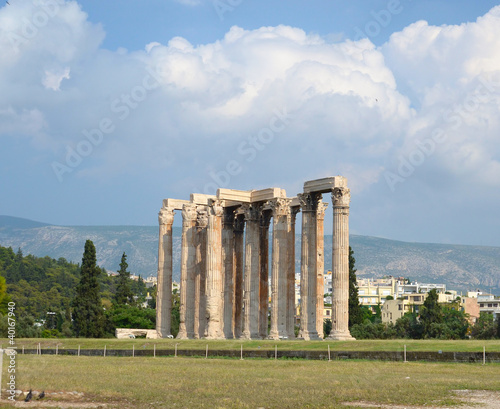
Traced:
[[288, 259], [288, 218], [290, 199], [269, 201], [273, 209], [273, 253], [271, 267], [271, 331], [270, 339], [288, 337], [287, 331], [287, 271]]

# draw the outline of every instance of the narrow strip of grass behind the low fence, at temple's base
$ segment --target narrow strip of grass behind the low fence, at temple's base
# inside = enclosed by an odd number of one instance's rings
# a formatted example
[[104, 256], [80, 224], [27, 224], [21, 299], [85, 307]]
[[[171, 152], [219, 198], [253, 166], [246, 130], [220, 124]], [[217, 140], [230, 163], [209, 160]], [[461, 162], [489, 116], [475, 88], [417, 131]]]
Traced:
[[[206, 345], [209, 349], [220, 350], [240, 350], [243, 349], [264, 349], [274, 350], [278, 346], [279, 350], [327, 350], [328, 345], [332, 351], [402, 351], [406, 345], [407, 351], [443, 351], [443, 352], [482, 352], [483, 346], [487, 352], [500, 352], [500, 340], [458, 340], [458, 341], [439, 341], [439, 340], [359, 340], [359, 341], [242, 341], [242, 340], [188, 340], [181, 341], [175, 339], [86, 339], [86, 338], [67, 338], [67, 339], [25, 339], [16, 340], [19, 350], [22, 346], [25, 348], [36, 348], [40, 343], [42, 348], [59, 349], [174, 349], [177, 344], [179, 349], [205, 350]], [[4, 348], [8, 346], [7, 339], [0, 339], [0, 345]]]

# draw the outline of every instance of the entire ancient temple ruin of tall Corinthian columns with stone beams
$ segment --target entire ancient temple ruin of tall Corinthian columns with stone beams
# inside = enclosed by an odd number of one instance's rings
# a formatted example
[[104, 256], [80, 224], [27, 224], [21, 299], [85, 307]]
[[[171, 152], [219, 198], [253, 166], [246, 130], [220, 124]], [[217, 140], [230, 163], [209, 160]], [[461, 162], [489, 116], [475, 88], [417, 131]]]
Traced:
[[[332, 331], [329, 339], [353, 339], [348, 329], [349, 202], [347, 179], [304, 183], [286, 197], [280, 188], [219, 189], [190, 200], [165, 199], [159, 213], [156, 330], [170, 335], [172, 224], [182, 213], [179, 339], [293, 339], [295, 326], [295, 220], [302, 211], [300, 268], [301, 339], [323, 338], [323, 224], [333, 207]], [[269, 260], [269, 229], [272, 252]], [[269, 294], [269, 262], [271, 294]], [[268, 333], [269, 298], [271, 328]]]

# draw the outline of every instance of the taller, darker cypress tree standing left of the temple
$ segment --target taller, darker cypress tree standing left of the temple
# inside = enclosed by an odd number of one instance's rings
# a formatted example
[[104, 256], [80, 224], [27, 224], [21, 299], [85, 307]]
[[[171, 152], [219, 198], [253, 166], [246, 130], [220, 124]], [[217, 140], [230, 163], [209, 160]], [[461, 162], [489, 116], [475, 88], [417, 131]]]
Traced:
[[85, 242], [80, 283], [73, 300], [73, 330], [77, 337], [101, 338], [104, 335], [104, 310], [99, 296], [100, 269], [96, 265], [95, 246]]

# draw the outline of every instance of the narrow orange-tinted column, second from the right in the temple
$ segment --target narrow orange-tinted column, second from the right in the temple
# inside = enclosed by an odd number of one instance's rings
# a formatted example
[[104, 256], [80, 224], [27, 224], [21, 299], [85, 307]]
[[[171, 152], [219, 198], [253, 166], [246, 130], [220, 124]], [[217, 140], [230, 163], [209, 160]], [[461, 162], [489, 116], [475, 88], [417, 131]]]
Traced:
[[328, 203], [320, 202], [318, 203], [318, 209], [316, 211], [316, 230], [318, 232], [316, 244], [318, 252], [317, 260], [317, 278], [316, 278], [316, 331], [318, 331], [318, 336], [320, 338], [324, 337], [323, 334], [323, 310], [324, 310], [324, 292], [325, 292], [325, 210], [328, 207]]

